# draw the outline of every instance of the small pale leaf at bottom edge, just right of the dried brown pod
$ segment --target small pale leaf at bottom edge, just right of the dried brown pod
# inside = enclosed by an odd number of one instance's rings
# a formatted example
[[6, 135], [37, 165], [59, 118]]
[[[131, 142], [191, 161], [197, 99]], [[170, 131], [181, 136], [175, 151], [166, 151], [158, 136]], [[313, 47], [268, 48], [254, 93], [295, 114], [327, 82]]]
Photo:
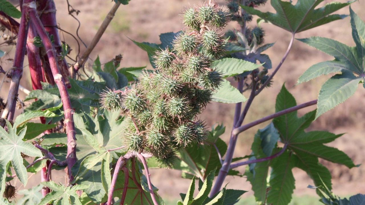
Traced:
[[43, 186], [33, 186], [31, 189], [22, 189], [18, 191], [19, 195], [24, 195], [17, 201], [18, 205], [38, 205], [43, 196], [41, 194]]

